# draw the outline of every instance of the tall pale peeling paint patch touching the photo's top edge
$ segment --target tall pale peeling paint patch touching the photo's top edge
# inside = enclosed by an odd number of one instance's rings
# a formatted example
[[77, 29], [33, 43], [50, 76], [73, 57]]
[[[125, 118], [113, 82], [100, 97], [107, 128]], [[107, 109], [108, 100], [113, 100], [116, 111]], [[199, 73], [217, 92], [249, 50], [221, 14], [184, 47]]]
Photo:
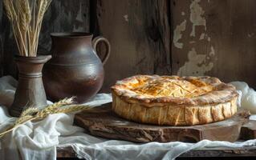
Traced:
[[193, 0], [190, 4], [190, 22], [192, 22], [191, 37], [196, 37], [196, 26], [205, 26], [206, 30], [206, 20], [203, 17], [205, 11], [198, 4], [200, 1], [201, 0]]

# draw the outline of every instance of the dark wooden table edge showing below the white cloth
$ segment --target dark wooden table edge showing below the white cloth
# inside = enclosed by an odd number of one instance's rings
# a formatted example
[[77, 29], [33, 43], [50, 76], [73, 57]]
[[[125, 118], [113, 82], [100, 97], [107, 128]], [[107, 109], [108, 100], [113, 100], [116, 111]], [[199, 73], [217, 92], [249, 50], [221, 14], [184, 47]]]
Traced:
[[[236, 157], [236, 158], [256, 158], [256, 147], [243, 147], [243, 148], [215, 148], [214, 150], [190, 150], [185, 154], [181, 154], [179, 158], [224, 158], [224, 157]], [[76, 158], [75, 151], [71, 147], [58, 148], [57, 158]]]

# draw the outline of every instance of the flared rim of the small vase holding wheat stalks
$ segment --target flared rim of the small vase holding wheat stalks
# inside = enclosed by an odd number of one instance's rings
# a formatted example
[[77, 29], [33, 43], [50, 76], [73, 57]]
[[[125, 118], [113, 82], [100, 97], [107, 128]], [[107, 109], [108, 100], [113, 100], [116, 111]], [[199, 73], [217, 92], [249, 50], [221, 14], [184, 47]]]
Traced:
[[51, 55], [39, 55], [36, 57], [26, 57], [21, 55], [15, 55], [16, 62], [45, 63], [49, 59], [51, 59]]

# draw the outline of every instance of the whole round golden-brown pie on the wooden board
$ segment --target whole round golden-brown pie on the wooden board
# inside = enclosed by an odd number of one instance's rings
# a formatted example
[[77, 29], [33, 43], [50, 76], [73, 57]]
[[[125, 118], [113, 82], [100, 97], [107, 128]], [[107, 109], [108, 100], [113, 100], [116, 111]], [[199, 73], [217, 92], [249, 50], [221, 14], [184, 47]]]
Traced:
[[136, 75], [112, 86], [112, 110], [135, 122], [191, 126], [237, 112], [234, 86], [212, 77]]

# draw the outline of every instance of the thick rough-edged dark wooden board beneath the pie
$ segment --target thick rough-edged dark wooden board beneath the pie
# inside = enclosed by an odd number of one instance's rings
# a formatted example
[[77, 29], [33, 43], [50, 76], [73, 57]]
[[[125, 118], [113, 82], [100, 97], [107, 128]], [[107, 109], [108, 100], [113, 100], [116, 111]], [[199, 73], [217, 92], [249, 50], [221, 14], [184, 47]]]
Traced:
[[112, 112], [111, 106], [112, 103], [108, 103], [76, 114], [75, 124], [95, 136], [131, 142], [198, 142], [202, 139], [234, 142], [238, 138], [255, 138], [256, 135], [256, 123], [248, 119], [250, 113], [246, 110], [238, 111], [225, 121], [206, 125], [154, 126], [120, 118]]

